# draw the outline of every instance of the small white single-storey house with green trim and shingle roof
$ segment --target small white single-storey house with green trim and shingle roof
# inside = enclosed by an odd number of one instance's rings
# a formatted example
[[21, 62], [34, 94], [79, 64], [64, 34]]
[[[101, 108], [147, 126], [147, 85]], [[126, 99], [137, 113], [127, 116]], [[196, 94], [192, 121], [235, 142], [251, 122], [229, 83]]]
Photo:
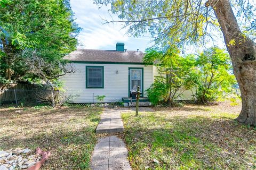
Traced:
[[[143, 64], [144, 54], [139, 50], [126, 50], [117, 43], [116, 50], [77, 49], [65, 59], [75, 73], [64, 75], [68, 95], [75, 95], [74, 103], [129, 102], [130, 90], [140, 86], [141, 101], [148, 101], [147, 90], [154, 82], [157, 71], [153, 65]], [[97, 96], [105, 96], [103, 101]], [[191, 99], [191, 94], [187, 95]]]

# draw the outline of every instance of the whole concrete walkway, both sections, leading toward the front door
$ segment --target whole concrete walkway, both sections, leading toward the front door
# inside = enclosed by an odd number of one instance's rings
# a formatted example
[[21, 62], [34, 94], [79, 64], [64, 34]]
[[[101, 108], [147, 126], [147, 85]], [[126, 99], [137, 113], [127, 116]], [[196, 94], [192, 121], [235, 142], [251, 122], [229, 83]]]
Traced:
[[[121, 118], [121, 110], [105, 109], [96, 133], [123, 132], [124, 125]], [[115, 135], [99, 139], [94, 148], [91, 169], [96, 170], [131, 170], [127, 159], [125, 143]]]

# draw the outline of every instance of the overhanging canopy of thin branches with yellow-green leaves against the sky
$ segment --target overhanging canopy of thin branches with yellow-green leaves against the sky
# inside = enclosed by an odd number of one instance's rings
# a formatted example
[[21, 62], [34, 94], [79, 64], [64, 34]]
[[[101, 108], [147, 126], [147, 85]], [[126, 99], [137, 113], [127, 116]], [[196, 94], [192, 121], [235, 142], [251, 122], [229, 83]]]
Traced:
[[[111, 5], [110, 11], [123, 22], [133, 36], [150, 33], [156, 43], [168, 41], [183, 44], [185, 42], [214, 39], [214, 30], [220, 31], [214, 11], [205, 7], [202, 0], [94, 0], [98, 5]], [[245, 35], [256, 36], [256, 4], [253, 1], [233, 0], [236, 16]]]

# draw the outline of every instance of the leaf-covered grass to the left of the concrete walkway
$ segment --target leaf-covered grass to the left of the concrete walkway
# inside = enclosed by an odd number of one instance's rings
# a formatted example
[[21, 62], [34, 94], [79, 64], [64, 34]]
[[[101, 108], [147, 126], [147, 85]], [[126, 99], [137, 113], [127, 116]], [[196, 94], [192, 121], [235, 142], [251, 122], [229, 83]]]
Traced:
[[52, 154], [42, 169], [89, 168], [101, 108], [8, 108], [0, 112], [0, 150], [41, 147]]

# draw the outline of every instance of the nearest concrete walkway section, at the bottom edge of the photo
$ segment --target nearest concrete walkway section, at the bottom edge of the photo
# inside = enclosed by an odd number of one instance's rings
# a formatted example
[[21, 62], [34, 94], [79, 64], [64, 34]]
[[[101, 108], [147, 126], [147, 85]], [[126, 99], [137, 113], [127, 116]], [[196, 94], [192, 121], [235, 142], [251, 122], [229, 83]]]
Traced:
[[94, 148], [91, 169], [131, 170], [125, 143], [116, 136], [99, 139]]

